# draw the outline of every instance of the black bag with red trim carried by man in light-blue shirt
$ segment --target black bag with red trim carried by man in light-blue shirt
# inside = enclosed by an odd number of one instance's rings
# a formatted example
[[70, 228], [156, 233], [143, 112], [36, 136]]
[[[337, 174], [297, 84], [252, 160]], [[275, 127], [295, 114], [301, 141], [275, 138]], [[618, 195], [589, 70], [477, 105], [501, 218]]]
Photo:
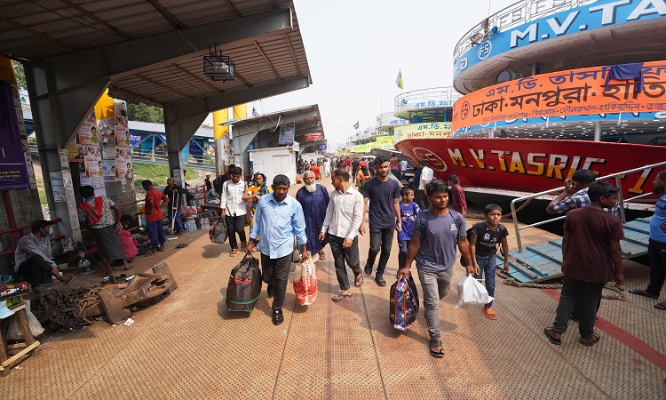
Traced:
[[261, 269], [259, 260], [245, 254], [241, 262], [231, 270], [226, 286], [226, 309], [251, 313], [261, 293]]

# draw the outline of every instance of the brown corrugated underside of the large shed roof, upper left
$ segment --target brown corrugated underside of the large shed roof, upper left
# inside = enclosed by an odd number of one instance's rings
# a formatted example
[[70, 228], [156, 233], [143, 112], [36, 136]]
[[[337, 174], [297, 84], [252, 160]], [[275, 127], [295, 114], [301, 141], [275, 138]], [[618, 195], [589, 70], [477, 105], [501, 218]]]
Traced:
[[[173, 60], [117, 74], [113, 97], [162, 105], [222, 92], [239, 91], [310, 76], [293, 2], [285, 0], [4, 0], [0, 7], [0, 54], [14, 60], [39, 60], [91, 52], [117, 44], [143, 42], [145, 52], [164, 52], [160, 40], [173, 34], [190, 52]], [[221, 44], [236, 63], [235, 81], [213, 82], [203, 75], [202, 56], [214, 37], [201, 45], [198, 27], [218, 22], [240, 25], [252, 17], [291, 9], [291, 26], [250, 39]], [[230, 27], [231, 28], [231, 27]], [[233, 36], [233, 35], [230, 35]], [[151, 43], [152, 42], [152, 43]], [[219, 43], [220, 41], [218, 41]], [[123, 58], [120, 47], [112, 58]], [[309, 82], [311, 83], [311, 81]]]

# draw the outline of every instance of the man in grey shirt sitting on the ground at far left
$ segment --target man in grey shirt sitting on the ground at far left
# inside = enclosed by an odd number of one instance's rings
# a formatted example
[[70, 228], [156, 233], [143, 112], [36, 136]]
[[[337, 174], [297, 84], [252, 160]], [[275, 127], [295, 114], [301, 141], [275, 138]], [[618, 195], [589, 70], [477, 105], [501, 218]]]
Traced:
[[74, 279], [74, 276], [60, 276], [58, 266], [52, 260], [49, 241], [51, 222], [36, 220], [30, 230], [32, 234], [21, 237], [16, 244], [14, 271], [24, 276], [33, 287], [51, 284], [52, 276], [66, 284]]

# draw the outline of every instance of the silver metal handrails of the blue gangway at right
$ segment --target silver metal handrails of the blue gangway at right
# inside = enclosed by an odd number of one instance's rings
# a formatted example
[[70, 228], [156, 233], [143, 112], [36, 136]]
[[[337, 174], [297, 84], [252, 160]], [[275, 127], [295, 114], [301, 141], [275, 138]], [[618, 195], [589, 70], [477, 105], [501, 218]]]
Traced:
[[[600, 178], [597, 178], [597, 180], [610, 180], [610, 179], [615, 180], [615, 186], [618, 189], [620, 189], [620, 201], [619, 201], [618, 205], [619, 205], [619, 208], [620, 208], [620, 219], [622, 220], [622, 223], [627, 221], [627, 218], [624, 214], [624, 204], [635, 202], [636, 200], [638, 200], [640, 198], [652, 195], [652, 193], [646, 193], [646, 194], [643, 194], [643, 195], [633, 196], [633, 197], [630, 197], [628, 199], [624, 199], [623, 196], [622, 196], [622, 178], [625, 175], [628, 175], [630, 173], [646, 172], [645, 174], [643, 174], [643, 177], [645, 177], [645, 179], [646, 179], [646, 177], [650, 175], [650, 172], [652, 172], [652, 170], [654, 170], [654, 168], [658, 168], [658, 167], [663, 166], [663, 165], [666, 165], [666, 162], [658, 163], [658, 164], [645, 165], [645, 166], [642, 166], [642, 167], [634, 168], [632, 170], [627, 170], [627, 171], [622, 171], [622, 172], [617, 172], [617, 173], [611, 173], [610, 175], [606, 175], [606, 176], [602, 176]], [[539, 221], [539, 222], [535, 222], [533, 224], [524, 225], [524, 226], [520, 227], [519, 223], [518, 223], [518, 216], [517, 216], [517, 214], [519, 212], [519, 209], [516, 208], [516, 204], [520, 203], [520, 202], [526, 202], [528, 200], [532, 200], [532, 199], [534, 199], [536, 197], [539, 197], [539, 196], [550, 195], [551, 193], [560, 192], [563, 189], [564, 189], [564, 187], [553, 188], [551, 190], [546, 190], [544, 192], [535, 193], [535, 194], [532, 194], [532, 195], [529, 195], [529, 196], [518, 197], [518, 198], [514, 198], [513, 200], [511, 200], [511, 218], [513, 219], [513, 227], [516, 230], [516, 241], [518, 242], [518, 252], [523, 252], [523, 245], [522, 245], [522, 241], [520, 240], [520, 231], [522, 229], [538, 227], [540, 225], [551, 223], [551, 222], [554, 222], [556, 220], [564, 220], [567, 216], [566, 215], [560, 215], [558, 217], [551, 218], [549, 220], [542, 220], [542, 221]]]

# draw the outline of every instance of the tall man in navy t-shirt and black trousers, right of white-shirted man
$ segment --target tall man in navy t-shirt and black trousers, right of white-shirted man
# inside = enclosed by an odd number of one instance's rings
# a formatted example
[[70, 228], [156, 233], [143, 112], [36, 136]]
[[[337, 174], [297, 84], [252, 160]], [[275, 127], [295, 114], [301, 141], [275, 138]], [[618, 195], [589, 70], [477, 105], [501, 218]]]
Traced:
[[[392, 180], [388, 174], [391, 164], [385, 156], [375, 159], [375, 172], [377, 176], [368, 180], [363, 186], [364, 210], [369, 205], [370, 226], [370, 250], [368, 260], [365, 263], [366, 275], [372, 275], [372, 268], [381, 249], [375, 282], [379, 286], [385, 286], [384, 271], [389, 257], [391, 256], [391, 245], [393, 243], [393, 230], [400, 232], [402, 223], [400, 220], [400, 182]], [[365, 233], [365, 227], [361, 224], [361, 235]]]

